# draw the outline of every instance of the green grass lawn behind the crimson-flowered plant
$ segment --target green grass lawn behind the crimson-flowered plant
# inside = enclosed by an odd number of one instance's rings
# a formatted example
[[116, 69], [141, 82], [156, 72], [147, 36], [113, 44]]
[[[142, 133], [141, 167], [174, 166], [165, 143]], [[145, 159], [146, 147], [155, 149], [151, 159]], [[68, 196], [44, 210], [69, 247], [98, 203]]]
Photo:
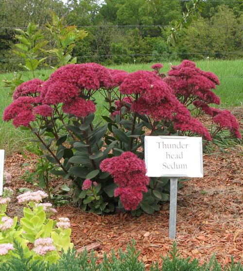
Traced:
[[[178, 65], [179, 62], [173, 62], [173, 65]], [[202, 60], [196, 62], [199, 68], [209, 70], [215, 73], [221, 85], [217, 87], [215, 93], [221, 98], [220, 107], [232, 107], [243, 105], [243, 60]], [[125, 64], [111, 66], [109, 68], [124, 69], [128, 72], [133, 72], [139, 69], [150, 69], [152, 64]], [[169, 63], [164, 63], [164, 72], [170, 69]], [[38, 70], [36, 77], [45, 80], [52, 70]], [[12, 98], [8, 94], [8, 89], [3, 87], [1, 82], [3, 79], [11, 79], [13, 73], [0, 74], [0, 115], [2, 116], [4, 108], [11, 103]], [[23, 80], [32, 79], [30, 72], [24, 72]], [[99, 98], [97, 97], [98, 102]], [[102, 97], [101, 97], [102, 98]], [[102, 102], [102, 100], [101, 100]], [[97, 115], [104, 115], [106, 110], [100, 103], [97, 105]], [[24, 146], [25, 142], [29, 141], [31, 134], [20, 129], [15, 129], [12, 123], [3, 122], [0, 119], [0, 149], [5, 149], [7, 153], [12, 153]]]

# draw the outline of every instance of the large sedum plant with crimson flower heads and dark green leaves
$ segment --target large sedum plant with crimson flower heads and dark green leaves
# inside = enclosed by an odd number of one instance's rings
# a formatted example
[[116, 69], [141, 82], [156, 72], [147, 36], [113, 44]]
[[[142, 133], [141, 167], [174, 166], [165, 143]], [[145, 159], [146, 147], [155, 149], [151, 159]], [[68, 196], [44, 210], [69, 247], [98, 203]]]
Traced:
[[[18, 86], [3, 119], [33, 132], [52, 174], [72, 180], [73, 200], [83, 210], [152, 214], [168, 200], [170, 182], [146, 176], [145, 135], [199, 135], [207, 144], [228, 130], [241, 138], [236, 118], [211, 106], [220, 103], [212, 91], [220, 84], [216, 75], [189, 60], [167, 76], [162, 68], [129, 74], [95, 63], [69, 64], [45, 82]], [[101, 122], [97, 97], [107, 109]], [[211, 119], [209, 129], [203, 115]]]

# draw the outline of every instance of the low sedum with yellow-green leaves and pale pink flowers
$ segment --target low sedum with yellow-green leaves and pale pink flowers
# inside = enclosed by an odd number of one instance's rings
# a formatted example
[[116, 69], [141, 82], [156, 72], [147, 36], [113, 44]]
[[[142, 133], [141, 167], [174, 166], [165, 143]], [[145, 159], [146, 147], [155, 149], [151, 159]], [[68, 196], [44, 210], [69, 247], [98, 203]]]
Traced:
[[27, 260], [54, 263], [60, 258], [60, 252], [73, 247], [70, 242], [70, 222], [68, 218], [52, 220], [56, 212], [51, 203], [41, 203], [47, 194], [41, 190], [27, 191], [17, 197], [18, 203], [25, 205], [24, 216], [18, 222], [6, 215], [7, 203], [11, 201], [10, 188], [4, 189], [0, 198], [0, 262], [8, 261], [15, 255], [14, 244], [20, 245]]

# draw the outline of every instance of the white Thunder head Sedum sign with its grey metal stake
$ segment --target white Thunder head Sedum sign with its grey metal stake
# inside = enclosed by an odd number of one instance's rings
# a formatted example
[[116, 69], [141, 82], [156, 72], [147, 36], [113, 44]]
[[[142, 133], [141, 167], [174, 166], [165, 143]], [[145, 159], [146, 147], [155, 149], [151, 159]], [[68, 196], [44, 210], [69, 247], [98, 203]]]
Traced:
[[180, 177], [203, 177], [202, 137], [145, 136], [147, 176], [170, 177], [170, 238], [175, 238], [177, 182]]

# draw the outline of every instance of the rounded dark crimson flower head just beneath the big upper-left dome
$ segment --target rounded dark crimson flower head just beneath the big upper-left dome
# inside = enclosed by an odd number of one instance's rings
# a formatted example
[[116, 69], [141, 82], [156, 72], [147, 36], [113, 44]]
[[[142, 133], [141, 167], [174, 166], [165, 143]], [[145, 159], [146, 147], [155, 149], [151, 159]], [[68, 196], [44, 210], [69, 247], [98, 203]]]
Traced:
[[92, 101], [86, 101], [83, 98], [76, 98], [70, 102], [65, 102], [62, 108], [63, 112], [72, 114], [76, 117], [86, 117], [95, 112], [95, 104]]

